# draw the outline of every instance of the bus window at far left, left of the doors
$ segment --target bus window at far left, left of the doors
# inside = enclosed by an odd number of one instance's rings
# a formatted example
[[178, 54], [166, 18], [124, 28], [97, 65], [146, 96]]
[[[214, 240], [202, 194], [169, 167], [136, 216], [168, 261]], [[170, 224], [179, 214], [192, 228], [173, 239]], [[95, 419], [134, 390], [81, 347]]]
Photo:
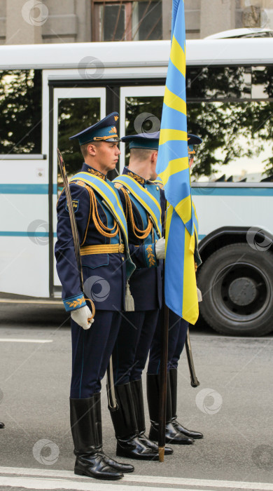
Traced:
[[41, 70], [0, 70], [0, 154], [41, 154]]

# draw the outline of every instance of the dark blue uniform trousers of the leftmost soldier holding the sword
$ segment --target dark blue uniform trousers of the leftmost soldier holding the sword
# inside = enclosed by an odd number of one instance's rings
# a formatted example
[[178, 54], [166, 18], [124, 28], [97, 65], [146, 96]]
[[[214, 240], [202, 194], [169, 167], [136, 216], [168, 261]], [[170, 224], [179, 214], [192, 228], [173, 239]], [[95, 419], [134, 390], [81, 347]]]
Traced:
[[96, 310], [94, 323], [84, 330], [71, 320], [71, 398], [89, 398], [102, 389], [109, 359], [120, 328], [118, 311]]

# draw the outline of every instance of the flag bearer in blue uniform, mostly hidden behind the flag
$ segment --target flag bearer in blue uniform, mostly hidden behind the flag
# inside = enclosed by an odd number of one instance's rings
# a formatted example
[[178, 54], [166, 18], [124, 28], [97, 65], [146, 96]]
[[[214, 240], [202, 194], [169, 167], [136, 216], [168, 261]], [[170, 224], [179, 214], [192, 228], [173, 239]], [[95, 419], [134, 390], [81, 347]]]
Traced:
[[[195, 151], [193, 145], [200, 144], [202, 139], [196, 135], [188, 134], [188, 156], [189, 166], [193, 165]], [[153, 168], [153, 179], [156, 181], [157, 174], [155, 166]], [[158, 185], [163, 189], [162, 183]], [[163, 204], [164, 203], [164, 204]], [[165, 195], [162, 192], [162, 208], [165, 208]], [[195, 250], [196, 267], [201, 264], [198, 249]], [[190, 445], [195, 438], [202, 438], [199, 431], [188, 430], [177, 421], [177, 368], [179, 358], [183, 351], [188, 331], [188, 322], [177, 316], [169, 309], [169, 337], [168, 337], [168, 378], [167, 378], [167, 408], [166, 408], [166, 443], [176, 443], [179, 445]], [[151, 429], [149, 438], [158, 440], [158, 407], [159, 407], [159, 386], [160, 386], [160, 322], [155, 330], [147, 370], [147, 398], [148, 408], [151, 419]]]

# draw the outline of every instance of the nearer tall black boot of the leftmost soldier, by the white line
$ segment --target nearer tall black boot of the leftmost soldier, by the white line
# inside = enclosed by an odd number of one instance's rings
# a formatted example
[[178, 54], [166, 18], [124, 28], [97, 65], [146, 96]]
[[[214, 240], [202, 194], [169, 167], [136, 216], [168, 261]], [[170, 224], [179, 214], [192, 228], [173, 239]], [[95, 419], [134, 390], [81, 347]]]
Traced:
[[76, 462], [74, 473], [97, 479], [123, 477], [106, 462], [97, 431], [96, 403], [99, 394], [87, 399], [70, 399], [70, 423]]

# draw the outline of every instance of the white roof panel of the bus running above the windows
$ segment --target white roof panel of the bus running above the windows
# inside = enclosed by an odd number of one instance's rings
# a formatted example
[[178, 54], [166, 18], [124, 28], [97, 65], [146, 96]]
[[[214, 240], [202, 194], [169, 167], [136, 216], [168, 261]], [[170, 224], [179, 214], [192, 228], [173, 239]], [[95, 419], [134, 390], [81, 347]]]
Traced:
[[[187, 63], [188, 65], [272, 63], [272, 44], [272, 38], [190, 39], [186, 41]], [[170, 48], [170, 41], [1, 46], [0, 69], [36, 67], [80, 70], [88, 64], [95, 65], [97, 60], [97, 67], [101, 72], [108, 66], [140, 66], [148, 73], [150, 67], [168, 65]]]

